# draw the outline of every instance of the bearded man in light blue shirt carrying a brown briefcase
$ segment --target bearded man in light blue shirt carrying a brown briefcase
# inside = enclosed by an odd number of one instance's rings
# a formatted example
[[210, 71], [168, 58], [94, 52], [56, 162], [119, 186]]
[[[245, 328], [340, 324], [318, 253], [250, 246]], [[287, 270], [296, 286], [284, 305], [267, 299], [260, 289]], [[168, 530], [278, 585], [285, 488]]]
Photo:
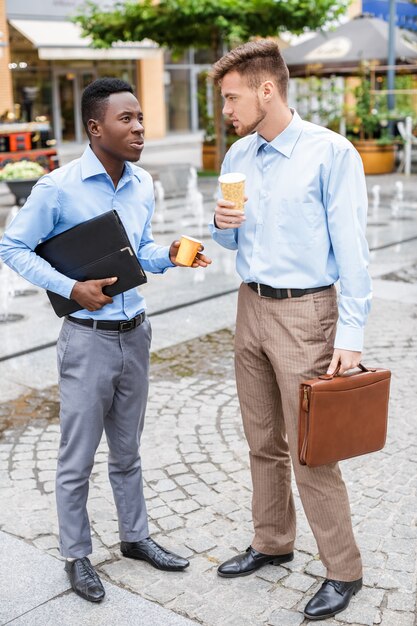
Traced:
[[255, 528], [251, 546], [218, 573], [244, 576], [293, 559], [291, 459], [327, 569], [305, 615], [324, 619], [359, 591], [362, 565], [338, 465], [299, 463], [298, 389], [303, 379], [337, 367], [342, 374], [360, 361], [371, 299], [363, 167], [349, 141], [288, 107], [288, 69], [276, 43], [232, 50], [214, 65], [213, 77], [223, 113], [242, 137], [222, 173], [246, 175], [244, 212], [219, 199], [211, 231], [220, 245], [237, 250], [243, 280], [235, 362]]

